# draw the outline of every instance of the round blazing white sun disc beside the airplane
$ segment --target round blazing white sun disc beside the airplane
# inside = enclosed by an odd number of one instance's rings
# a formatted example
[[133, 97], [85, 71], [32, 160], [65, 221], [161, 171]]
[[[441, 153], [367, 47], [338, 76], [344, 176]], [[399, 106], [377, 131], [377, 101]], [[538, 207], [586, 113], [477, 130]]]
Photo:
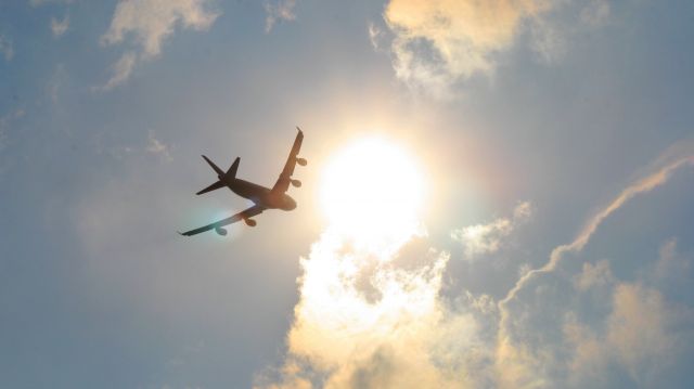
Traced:
[[354, 238], [399, 238], [419, 222], [424, 179], [415, 159], [383, 138], [356, 141], [323, 170], [321, 205], [331, 226]]

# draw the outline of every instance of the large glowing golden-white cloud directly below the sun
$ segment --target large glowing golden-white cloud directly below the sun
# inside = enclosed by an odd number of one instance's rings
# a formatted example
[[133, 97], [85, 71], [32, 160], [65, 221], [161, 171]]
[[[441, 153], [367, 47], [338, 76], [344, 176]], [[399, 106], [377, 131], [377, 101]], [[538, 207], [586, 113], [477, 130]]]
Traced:
[[449, 256], [398, 246], [384, 257], [357, 246], [329, 230], [301, 259], [285, 364], [256, 386], [476, 387], [485, 371], [467, 369], [486, 358], [478, 324], [438, 297]]

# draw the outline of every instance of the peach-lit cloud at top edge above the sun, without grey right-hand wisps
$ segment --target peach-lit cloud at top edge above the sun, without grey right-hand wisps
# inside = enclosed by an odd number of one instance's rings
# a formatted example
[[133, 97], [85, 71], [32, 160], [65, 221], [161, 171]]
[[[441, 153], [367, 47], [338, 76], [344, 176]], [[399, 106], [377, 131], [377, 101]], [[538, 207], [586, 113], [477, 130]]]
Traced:
[[396, 75], [438, 89], [474, 74], [489, 74], [494, 55], [514, 41], [522, 22], [537, 18], [554, 2], [390, 0], [384, 18], [395, 33]]

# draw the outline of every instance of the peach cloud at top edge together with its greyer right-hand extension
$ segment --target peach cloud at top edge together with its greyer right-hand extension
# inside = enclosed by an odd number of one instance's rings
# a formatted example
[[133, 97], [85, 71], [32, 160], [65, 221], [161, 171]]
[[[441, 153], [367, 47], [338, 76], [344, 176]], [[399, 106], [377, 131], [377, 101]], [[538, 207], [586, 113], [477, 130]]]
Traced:
[[564, 56], [573, 35], [600, 27], [609, 16], [607, 0], [584, 5], [575, 0], [389, 0], [384, 12], [395, 35], [396, 76], [442, 99], [454, 95], [455, 83], [493, 75], [526, 33], [529, 48], [551, 64]]

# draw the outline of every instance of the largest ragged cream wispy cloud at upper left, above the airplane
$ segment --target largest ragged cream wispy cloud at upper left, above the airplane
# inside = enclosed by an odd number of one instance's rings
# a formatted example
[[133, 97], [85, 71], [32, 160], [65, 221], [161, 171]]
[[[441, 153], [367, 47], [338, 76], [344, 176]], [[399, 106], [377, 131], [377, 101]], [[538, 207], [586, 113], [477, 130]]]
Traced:
[[120, 44], [131, 36], [136, 50], [120, 56], [112, 66], [113, 75], [99, 88], [110, 90], [125, 82], [139, 61], [153, 60], [162, 53], [164, 40], [177, 26], [197, 31], [207, 30], [219, 16], [208, 9], [207, 0], [121, 0], [101, 37], [103, 46]]

